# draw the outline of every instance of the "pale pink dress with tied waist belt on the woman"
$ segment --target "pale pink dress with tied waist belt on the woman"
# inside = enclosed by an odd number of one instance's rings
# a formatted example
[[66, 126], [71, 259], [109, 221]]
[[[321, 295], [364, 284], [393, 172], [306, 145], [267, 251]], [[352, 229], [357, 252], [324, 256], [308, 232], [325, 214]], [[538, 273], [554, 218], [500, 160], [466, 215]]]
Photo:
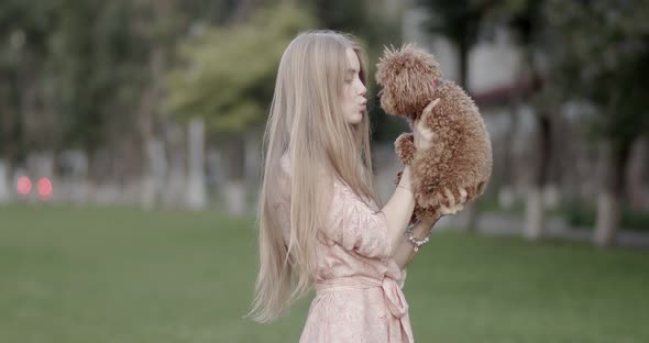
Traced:
[[[286, 165], [283, 159], [285, 170]], [[288, 202], [282, 203], [287, 228]], [[318, 237], [316, 298], [300, 343], [414, 342], [402, 291], [405, 272], [389, 256], [385, 215], [370, 204], [334, 182], [328, 224]]]

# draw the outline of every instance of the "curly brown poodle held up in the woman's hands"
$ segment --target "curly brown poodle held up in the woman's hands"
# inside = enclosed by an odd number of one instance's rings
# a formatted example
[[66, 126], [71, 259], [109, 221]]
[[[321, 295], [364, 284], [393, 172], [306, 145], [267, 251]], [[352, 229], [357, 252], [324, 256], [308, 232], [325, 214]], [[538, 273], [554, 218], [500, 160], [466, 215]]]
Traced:
[[377, 64], [376, 81], [383, 87], [383, 110], [406, 117], [410, 123], [427, 104], [440, 99], [427, 118], [433, 132], [430, 150], [416, 152], [411, 133], [395, 142], [398, 158], [413, 170], [417, 200], [413, 221], [439, 218], [440, 207], [451, 206], [444, 189], [460, 199], [459, 189], [464, 188], [466, 201], [482, 195], [492, 174], [488, 132], [473, 99], [453, 81], [441, 78], [435, 57], [410, 44], [386, 48]]

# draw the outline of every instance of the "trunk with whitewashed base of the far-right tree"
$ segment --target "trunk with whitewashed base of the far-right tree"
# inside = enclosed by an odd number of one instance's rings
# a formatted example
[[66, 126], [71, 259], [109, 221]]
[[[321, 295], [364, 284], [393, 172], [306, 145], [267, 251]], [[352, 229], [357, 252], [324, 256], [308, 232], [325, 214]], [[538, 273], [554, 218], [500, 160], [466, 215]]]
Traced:
[[625, 170], [631, 142], [619, 145], [605, 143], [601, 151], [603, 163], [602, 188], [597, 196], [597, 219], [593, 241], [598, 246], [615, 244], [619, 226], [622, 199], [624, 196]]

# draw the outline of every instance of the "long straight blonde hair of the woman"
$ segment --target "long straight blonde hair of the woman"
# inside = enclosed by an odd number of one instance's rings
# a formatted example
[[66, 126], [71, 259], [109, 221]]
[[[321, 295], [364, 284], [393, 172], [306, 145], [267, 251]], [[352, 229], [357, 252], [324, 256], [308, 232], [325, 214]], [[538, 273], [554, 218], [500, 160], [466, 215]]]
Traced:
[[[367, 115], [349, 124], [342, 113], [348, 48], [367, 85], [366, 55], [351, 35], [332, 31], [300, 33], [282, 56], [264, 133], [264, 173], [258, 198], [260, 270], [252, 310], [246, 317], [270, 322], [304, 297], [316, 279], [316, 237], [330, 198], [332, 178], [359, 197], [378, 203], [374, 190]], [[352, 148], [353, 147], [353, 148]], [[285, 244], [274, 204], [286, 192], [280, 158], [289, 166], [289, 242]], [[323, 189], [322, 187], [326, 187]], [[320, 195], [320, 196], [319, 196]]]

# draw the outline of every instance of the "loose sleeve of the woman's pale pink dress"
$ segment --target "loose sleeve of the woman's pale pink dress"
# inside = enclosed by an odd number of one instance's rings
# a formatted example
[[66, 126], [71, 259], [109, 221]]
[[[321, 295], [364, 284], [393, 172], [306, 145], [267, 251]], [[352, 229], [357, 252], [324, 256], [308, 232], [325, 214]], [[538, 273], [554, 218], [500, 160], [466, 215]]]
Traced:
[[388, 258], [392, 246], [383, 212], [374, 212], [349, 187], [333, 182], [324, 234], [348, 251], [366, 257]]

